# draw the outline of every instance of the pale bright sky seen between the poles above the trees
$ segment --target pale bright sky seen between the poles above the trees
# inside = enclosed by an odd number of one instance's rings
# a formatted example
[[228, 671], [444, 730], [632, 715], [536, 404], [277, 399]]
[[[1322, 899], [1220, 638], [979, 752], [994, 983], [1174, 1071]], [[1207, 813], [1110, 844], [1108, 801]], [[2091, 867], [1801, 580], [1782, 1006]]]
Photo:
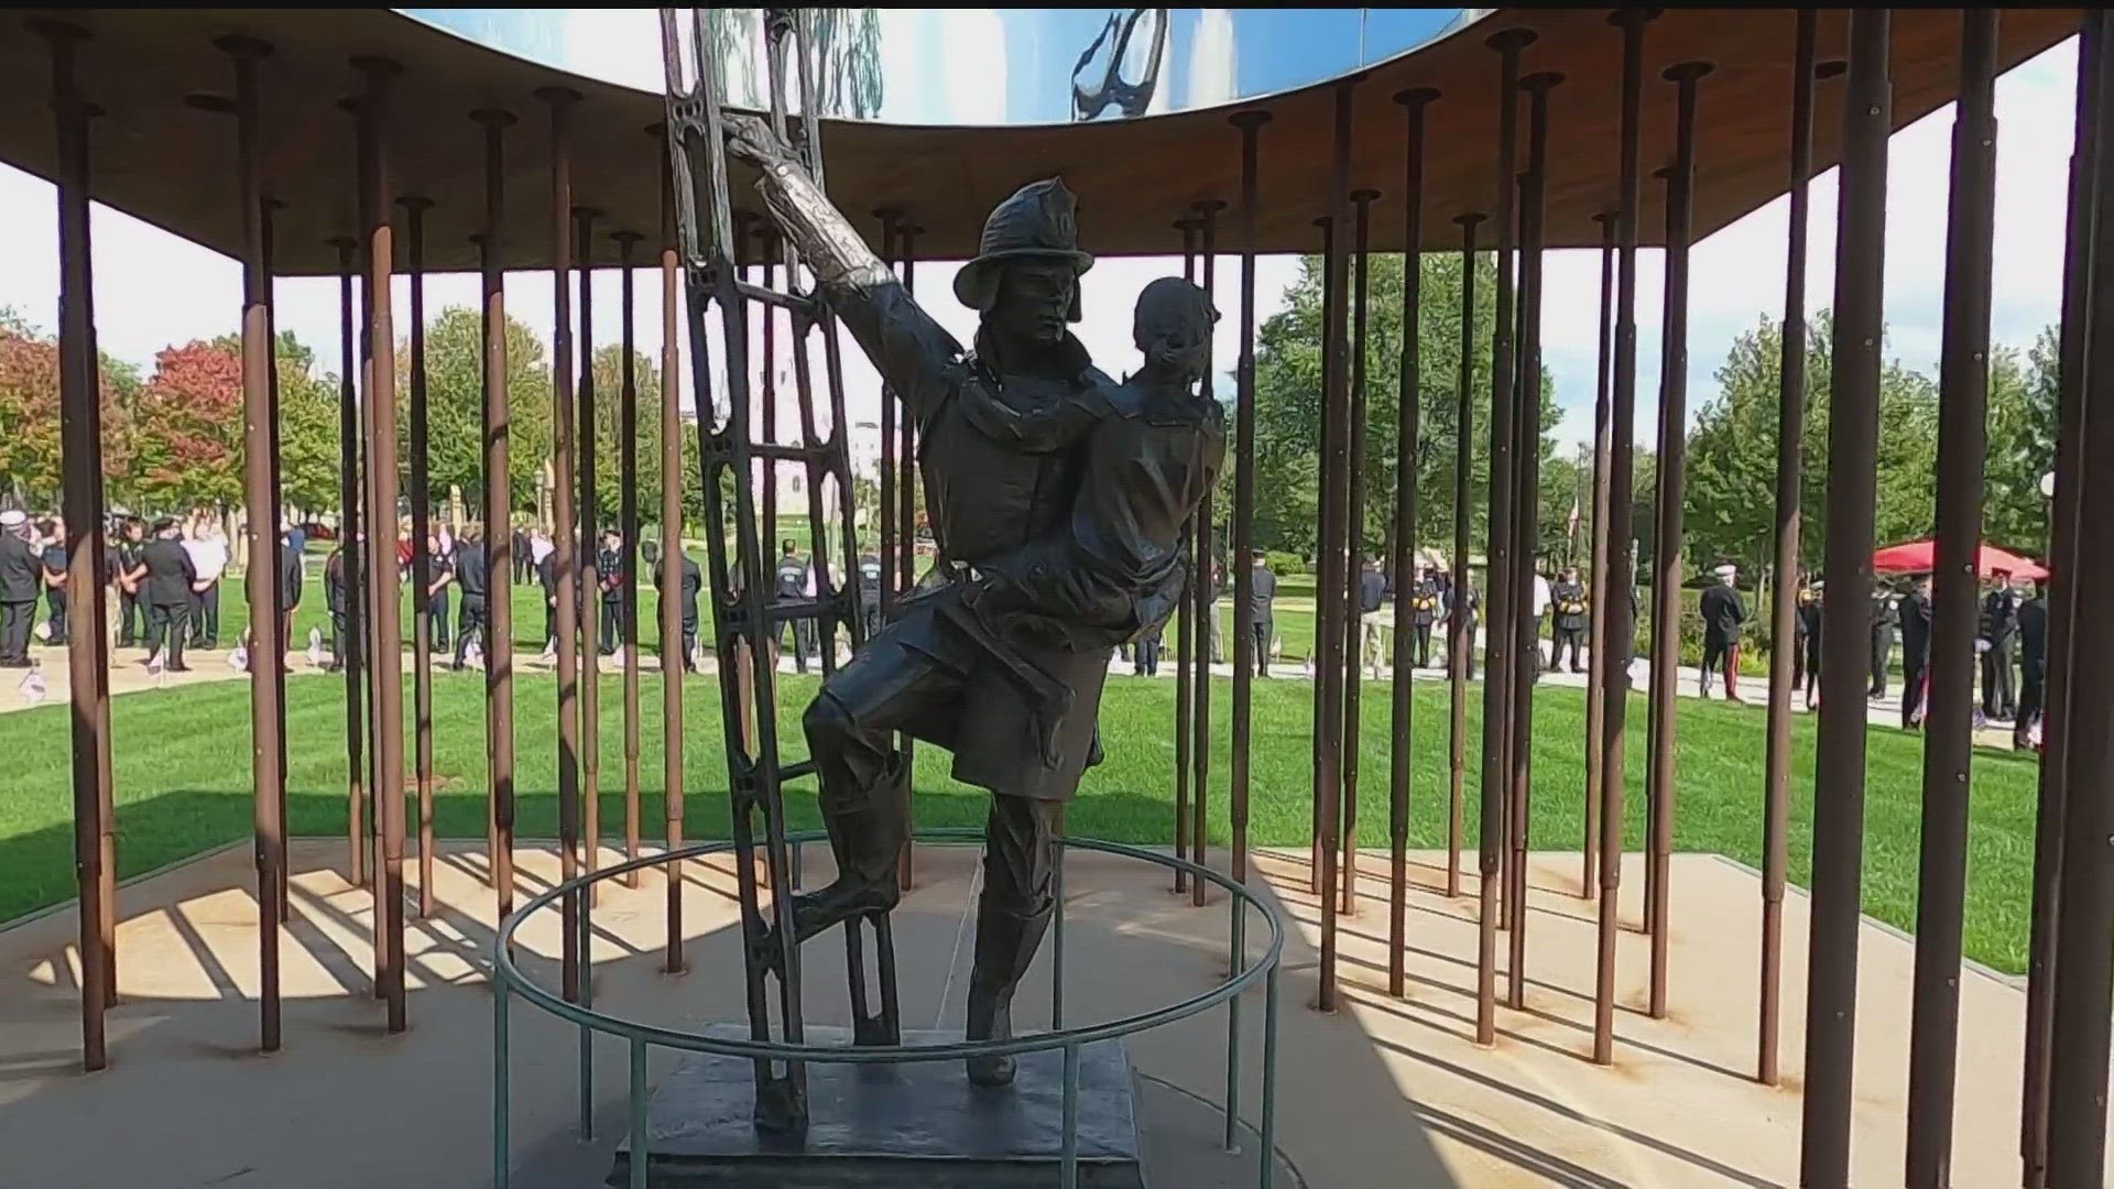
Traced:
[[[611, 15], [617, 11], [611, 11]], [[649, 13], [649, 11], [645, 11]], [[884, 11], [898, 32], [909, 32], [915, 13], [898, 17]], [[1194, 13], [1194, 11], [1190, 11]], [[1220, 61], [1245, 61], [1232, 44], [1230, 23], [1211, 17], [1182, 23], [1173, 36], [1190, 38], [1194, 51]], [[1353, 11], [1355, 13], [1355, 11]], [[994, 17], [996, 21], [996, 17]], [[939, 25], [934, 25], [937, 30]], [[949, 25], [958, 36], [960, 25]], [[1243, 30], [1245, 32], [1245, 30]], [[985, 30], [996, 44], [1015, 38], [994, 23]], [[1091, 32], [1089, 32], [1091, 36]], [[1404, 34], [1408, 36], [1408, 34]], [[567, 32], [573, 57], [602, 53], [617, 57], [626, 44], [626, 61], [638, 53], [636, 38], [596, 40], [594, 28], [575, 23]], [[920, 72], [917, 49], [926, 38], [894, 36], [884, 40], [884, 76], [903, 93], [896, 80], [920, 80], [928, 93], [924, 104], [958, 104], [968, 95], [960, 78]], [[647, 42], [651, 44], [651, 42]], [[581, 49], [586, 47], [586, 49]], [[596, 49], [598, 47], [598, 49]], [[896, 47], [896, 49], [890, 49]], [[930, 47], [926, 47], [930, 49]], [[1004, 70], [1004, 53], [994, 59]], [[1197, 57], [1192, 53], [1192, 57]], [[1996, 195], [1996, 277], [1991, 339], [2021, 351], [2032, 345], [2042, 326], [2055, 322], [2061, 298], [2061, 245], [2065, 220], [2065, 180], [2074, 121], [2076, 40], [2067, 40], [1998, 80], [1998, 195]], [[1061, 66], [1070, 74], [1070, 63]], [[1203, 76], [1177, 80], [1197, 99], [1209, 97], [1213, 83]], [[937, 93], [953, 89], [953, 93]], [[1249, 87], [1243, 85], [1243, 91]], [[987, 91], [985, 91], [987, 95]], [[892, 99], [913, 104], [915, 95]], [[1702, 104], [1710, 102], [1708, 83]], [[888, 112], [894, 116], [894, 112]], [[1900, 362], [1936, 374], [1943, 279], [1945, 279], [1945, 188], [1949, 173], [1949, 140], [1953, 108], [1945, 106], [1909, 125], [1892, 138], [1886, 224], [1886, 319], [1890, 353]], [[1700, 169], [1708, 184], [1710, 146], [1700, 148]], [[1264, 169], [1268, 161], [1264, 159]], [[1833, 305], [1835, 283], [1835, 171], [1812, 184], [1812, 237], [1807, 256], [1807, 307]], [[1714, 372], [1733, 339], [1750, 330], [1761, 315], [1776, 317], [1784, 290], [1784, 239], [1788, 199], [1778, 199], [1717, 235], [1698, 241], [1691, 254], [1689, 292], [1689, 421], [1714, 394]], [[0, 165], [0, 226], [21, 228], [11, 235], [8, 267], [0, 269], [0, 305], [13, 307], [32, 324], [57, 324], [57, 212], [53, 188], [27, 173]], [[1093, 245], [1091, 220], [1080, 228], [1087, 248]], [[120, 212], [95, 205], [95, 300], [101, 347], [150, 370], [154, 353], [167, 345], [211, 339], [237, 328], [241, 273], [235, 260], [186, 243]], [[956, 267], [928, 262], [917, 269], [917, 292], [932, 315], [968, 343], [975, 315], [962, 309], [949, 290]], [[1129, 341], [1129, 311], [1137, 290], [1163, 275], [1180, 275], [1180, 258], [1101, 260], [1082, 279], [1084, 322], [1074, 330], [1093, 351], [1104, 370], [1116, 374], [1135, 364]], [[1239, 258], [1224, 256], [1218, 267], [1220, 370], [1230, 370], [1237, 358], [1237, 271]], [[1558, 442], [1586, 442], [1592, 436], [1592, 402], [1598, 349], [1598, 252], [1550, 252], [1545, 262], [1543, 300], [1543, 364], [1556, 381], [1556, 402], [1562, 408]], [[1283, 294], [1298, 275], [1290, 256], [1258, 260], [1258, 322], [1283, 307]], [[596, 275], [596, 343], [613, 343], [619, 334], [615, 271]], [[397, 281], [397, 309], [406, 309], [408, 281]], [[277, 281], [281, 330], [292, 330], [311, 345], [319, 360], [338, 358], [338, 296], [334, 279]], [[1664, 269], [1659, 252], [1638, 254], [1638, 410], [1636, 425], [1643, 444], [1653, 438], [1659, 383], [1659, 311], [1664, 307]], [[427, 309], [435, 315], [448, 305], [478, 300], [474, 275], [435, 275], [427, 281]], [[550, 334], [552, 286], [548, 273], [520, 273], [507, 281], [507, 311]], [[649, 358], [660, 351], [660, 286], [655, 277], [638, 277], [636, 313], [638, 349]], [[846, 394], [854, 423], [873, 421], [879, 408], [879, 381], [858, 349], [846, 343]], [[723, 358], [715, 349], [715, 360]], [[820, 353], [816, 353], [820, 362]], [[820, 374], [820, 370], [816, 372]], [[791, 385], [786, 385], [791, 387]], [[1222, 396], [1230, 383], [1222, 381]], [[685, 391], [685, 404], [689, 396]], [[869, 451], [860, 451], [869, 453]]]

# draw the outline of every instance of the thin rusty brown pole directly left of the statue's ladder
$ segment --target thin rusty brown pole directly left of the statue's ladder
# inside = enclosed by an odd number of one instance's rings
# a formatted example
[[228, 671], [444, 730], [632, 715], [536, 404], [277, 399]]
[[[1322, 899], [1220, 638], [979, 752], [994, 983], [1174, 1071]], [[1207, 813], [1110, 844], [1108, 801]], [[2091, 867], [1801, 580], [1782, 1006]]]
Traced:
[[[666, 138], [666, 129], [647, 129], [655, 142]], [[676, 343], [676, 326], [683, 317], [683, 283], [674, 245], [674, 188], [670, 186], [668, 154], [662, 163], [662, 812], [666, 817], [666, 848], [674, 853], [683, 846], [683, 679], [689, 673], [689, 654], [683, 650], [683, 404], [681, 372], [683, 347]], [[700, 347], [702, 349], [702, 347]], [[710, 408], [698, 402], [698, 419], [704, 421]], [[683, 973], [683, 863], [668, 863], [668, 954], [662, 963], [666, 973]]]

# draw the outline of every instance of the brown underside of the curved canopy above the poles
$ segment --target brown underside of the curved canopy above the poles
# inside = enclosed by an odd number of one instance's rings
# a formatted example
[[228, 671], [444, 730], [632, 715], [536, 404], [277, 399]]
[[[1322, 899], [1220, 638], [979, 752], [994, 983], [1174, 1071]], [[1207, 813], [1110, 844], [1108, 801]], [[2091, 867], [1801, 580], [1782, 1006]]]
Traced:
[[[433, 199], [427, 260], [474, 269], [469, 235], [482, 228], [482, 131], [478, 108], [507, 108], [520, 123], [505, 138], [505, 258], [550, 267], [550, 116], [541, 87], [571, 87], [575, 106], [573, 201], [605, 212], [602, 231], [660, 226], [662, 142], [647, 127], [662, 97], [579, 78], [497, 53], [385, 8], [44, 8], [4, 19], [55, 17], [89, 30], [80, 47], [82, 91], [106, 114], [93, 125], [93, 197], [218, 252], [237, 252], [235, 123], [192, 97], [233, 91], [233, 66], [214, 42], [247, 34], [273, 47], [262, 66], [266, 184], [277, 216], [277, 271], [336, 271], [332, 237], [353, 233], [353, 121], [340, 102], [364, 80], [349, 59], [404, 66], [387, 127], [389, 188]], [[2076, 32], [2076, 8], [2006, 8], [1998, 61], [2013, 68]], [[1659, 237], [1664, 186], [1649, 171], [1672, 157], [1674, 85], [1659, 74], [1710, 61], [1700, 87], [1695, 231], [1708, 235], [1786, 188], [1791, 112], [1791, 8], [1668, 8], [1645, 38], [1645, 209], [1640, 239]], [[1492, 207], [1497, 180], [1499, 59], [1484, 40], [1509, 28], [1537, 34], [1524, 72], [1564, 76], [1552, 93], [1547, 243], [1600, 241], [1592, 220], [1615, 199], [1621, 36], [1607, 11], [1499, 8], [1471, 28], [1370, 68], [1355, 87], [1353, 186], [1380, 190], [1372, 245], [1404, 248], [1404, 110], [1395, 95], [1433, 87], [1427, 114], [1423, 250], [1459, 248], [1450, 220]], [[1936, 110], [1958, 80], [1960, 13], [1894, 11], [1894, 127]], [[1841, 57], [1848, 15], [1820, 21], [1820, 57]], [[660, 47], [643, 44], [651, 55]], [[53, 176], [51, 59], [38, 36], [0, 38], [0, 161]], [[991, 205], [1023, 182], [1063, 176], [1080, 195], [1080, 235], [1104, 256], [1180, 252], [1173, 222], [1203, 199], [1239, 197], [1235, 110], [1264, 110], [1258, 250], [1313, 252], [1313, 220], [1330, 212], [1334, 85], [1323, 83], [1235, 108], [1120, 123], [1042, 127], [907, 127], [824, 121], [831, 193], [877, 237], [873, 209], [903, 207], [924, 226], [922, 258], [964, 258]], [[1524, 121], [1522, 121], [1524, 125]], [[2025, 131], [2025, 129], [2021, 129]], [[1841, 80], [1820, 83], [1816, 165], [1837, 161]], [[1524, 135], [1522, 135], [1524, 150]], [[753, 197], [736, 182], [738, 205]], [[753, 203], [750, 203], [753, 205]], [[1239, 212], [1222, 235], [1239, 248]], [[598, 260], [613, 256], [609, 241]]]

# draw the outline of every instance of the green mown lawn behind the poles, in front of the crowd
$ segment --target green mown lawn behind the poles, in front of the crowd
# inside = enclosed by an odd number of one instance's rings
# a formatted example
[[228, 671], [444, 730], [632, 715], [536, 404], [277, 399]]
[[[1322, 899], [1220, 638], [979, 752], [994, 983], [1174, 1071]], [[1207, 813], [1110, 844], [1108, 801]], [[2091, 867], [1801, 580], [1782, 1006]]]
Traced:
[[[784, 677], [782, 724], [799, 749], [799, 707], [812, 677]], [[120, 876], [233, 842], [252, 829], [249, 692], [239, 681], [127, 694], [112, 702]], [[408, 698], [406, 698], [408, 700]], [[1216, 681], [1211, 728], [1211, 844], [1228, 844], [1226, 749], [1230, 681]], [[717, 681], [691, 679], [685, 698], [687, 834], [723, 836], [727, 768], [719, 740]], [[1387, 683], [1368, 683], [1361, 702], [1357, 831], [1364, 846], [1387, 842], [1389, 738]], [[1480, 698], [1469, 698], [1471, 740]], [[645, 836], [662, 834], [660, 679], [643, 681], [641, 815]], [[1256, 844], [1300, 844], [1311, 836], [1313, 688], [1258, 681], [1251, 743], [1251, 819]], [[622, 840], [624, 730], [622, 683], [602, 681], [602, 829]], [[1089, 772], [1072, 810], [1072, 829], [1123, 842], [1167, 842], [1173, 819], [1173, 683], [1112, 677], [1101, 700], [1108, 762]], [[1535, 696], [1537, 848], [1577, 848], [1583, 834], [1583, 717], [1579, 690], [1541, 688]], [[478, 675], [440, 673], [433, 696], [435, 817], [442, 836], [484, 836], [484, 707]], [[1626, 834], [1643, 844], [1643, 721], [1630, 711]], [[290, 825], [294, 834], [342, 836], [345, 749], [342, 685], [296, 677], [288, 683]], [[522, 675], [516, 685], [516, 743], [522, 838], [552, 838], [556, 812], [556, 681]], [[1446, 688], [1418, 683], [1414, 730], [1399, 751], [1412, 768], [1412, 846], [1446, 842]], [[72, 787], [68, 709], [40, 707], [0, 715], [0, 749], [11, 757], [0, 798], [0, 920], [72, 895]], [[1469, 747], [1467, 844], [1476, 846], [1476, 751]], [[1761, 863], [1763, 715], [1721, 702], [1683, 702], [1679, 721], [1681, 800], [1674, 846]], [[1814, 719], [1795, 728], [1791, 878], [1805, 882], [1812, 857]], [[2034, 846], [2036, 766], [2006, 751], [1977, 755], [1974, 819], [1968, 842], [1966, 952], [2004, 971], [2025, 963]], [[1867, 760], [1865, 908], [1903, 929], [1915, 922], [1922, 738], [1875, 728]], [[945, 755], [920, 751], [917, 821], [981, 825], [983, 793], [947, 779]], [[814, 827], [812, 785], [789, 791], [795, 827]], [[1674, 899], [1679, 908], [1679, 893]]]

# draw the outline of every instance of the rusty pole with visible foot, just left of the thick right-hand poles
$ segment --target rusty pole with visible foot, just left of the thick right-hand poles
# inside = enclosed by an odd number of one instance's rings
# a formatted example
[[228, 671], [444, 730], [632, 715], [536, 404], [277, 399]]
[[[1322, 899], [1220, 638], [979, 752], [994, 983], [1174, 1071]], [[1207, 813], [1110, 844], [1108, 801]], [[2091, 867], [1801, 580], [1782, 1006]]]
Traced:
[[1799, 8], [1791, 55], [1791, 235], [1776, 396], [1776, 584], [1769, 603], [1769, 740], [1761, 821], [1761, 1028], [1755, 1081], [1776, 1085], [1784, 1007], [1784, 878], [1791, 840], [1791, 675], [1799, 573], [1799, 499], [1805, 442], [1805, 231], [1814, 173], [1814, 44], [1820, 15]]

